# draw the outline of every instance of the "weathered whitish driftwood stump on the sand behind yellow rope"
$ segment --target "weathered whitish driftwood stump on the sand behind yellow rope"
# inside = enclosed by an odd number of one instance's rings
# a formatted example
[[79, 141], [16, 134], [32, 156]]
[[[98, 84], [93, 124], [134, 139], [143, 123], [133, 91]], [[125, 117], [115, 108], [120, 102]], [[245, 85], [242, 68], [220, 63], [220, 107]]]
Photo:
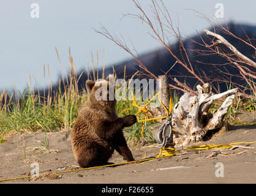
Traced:
[[[201, 141], [209, 130], [223, 127], [223, 117], [233, 103], [235, 93], [238, 89], [212, 95], [212, 88], [209, 83], [203, 86], [196, 86], [198, 95], [185, 93], [174, 106], [172, 113], [172, 130], [175, 146], [187, 146], [191, 142]], [[222, 106], [212, 115], [208, 112], [215, 100], [226, 97]], [[148, 107], [154, 116], [153, 107]], [[162, 113], [162, 115], [164, 115]]]

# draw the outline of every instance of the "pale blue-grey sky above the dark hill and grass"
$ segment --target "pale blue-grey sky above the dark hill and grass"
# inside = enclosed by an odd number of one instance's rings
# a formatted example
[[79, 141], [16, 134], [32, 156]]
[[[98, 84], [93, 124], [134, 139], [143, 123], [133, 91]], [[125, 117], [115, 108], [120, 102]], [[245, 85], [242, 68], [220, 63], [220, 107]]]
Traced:
[[[214, 14], [215, 4], [219, 2], [224, 6], [224, 19], [219, 21], [233, 20], [236, 23], [256, 25], [256, 1], [164, 1], [174, 25], [177, 25], [178, 16], [182, 34], [186, 35], [209, 27], [206, 20], [186, 9], [195, 9], [206, 15]], [[39, 5], [39, 18], [30, 16], [32, 3]], [[150, 1], [141, 0], [140, 3], [150, 13]], [[148, 35], [150, 29], [141, 21], [132, 18], [121, 20], [122, 14], [127, 12], [139, 13], [130, 0], [1, 0], [0, 89], [13, 88], [15, 81], [17, 88], [22, 90], [29, 83], [29, 74], [35, 86], [42, 87], [48, 81], [56, 82], [60, 69], [67, 72], [70, 67], [69, 47], [78, 70], [86, 68], [87, 62], [90, 64], [91, 51], [95, 58], [98, 50], [100, 66], [111, 66], [130, 58], [126, 51], [94, 31], [94, 28], [100, 28], [100, 23], [111, 33], [122, 34], [127, 42], [132, 40], [138, 53], [161, 47]], [[43, 66], [47, 67], [47, 64], [50, 77], [44, 81]]]

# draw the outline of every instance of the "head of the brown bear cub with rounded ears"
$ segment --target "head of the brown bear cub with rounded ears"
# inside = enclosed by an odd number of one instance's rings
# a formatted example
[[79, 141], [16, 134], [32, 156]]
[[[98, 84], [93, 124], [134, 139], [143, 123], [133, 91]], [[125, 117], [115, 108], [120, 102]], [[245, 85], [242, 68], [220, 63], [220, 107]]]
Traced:
[[86, 89], [89, 94], [90, 104], [100, 105], [101, 107], [115, 107], [114, 97], [114, 78], [110, 75], [105, 80], [86, 81]]

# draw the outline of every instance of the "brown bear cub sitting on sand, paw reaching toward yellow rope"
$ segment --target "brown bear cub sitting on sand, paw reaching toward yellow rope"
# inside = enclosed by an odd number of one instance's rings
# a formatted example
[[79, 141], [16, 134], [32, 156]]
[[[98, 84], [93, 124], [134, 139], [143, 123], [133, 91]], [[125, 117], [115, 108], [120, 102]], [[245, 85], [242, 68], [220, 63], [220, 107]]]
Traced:
[[[86, 104], [79, 111], [71, 133], [74, 157], [80, 167], [93, 167], [108, 164], [114, 149], [128, 161], [134, 160], [122, 133], [124, 127], [137, 122], [134, 115], [119, 118], [116, 113], [116, 100], [110, 97], [110, 78], [86, 81], [89, 93]], [[100, 94], [97, 89], [102, 88]], [[113, 92], [112, 92], [113, 93]], [[102, 96], [103, 99], [98, 99]], [[104, 99], [105, 98], [105, 99]]]

